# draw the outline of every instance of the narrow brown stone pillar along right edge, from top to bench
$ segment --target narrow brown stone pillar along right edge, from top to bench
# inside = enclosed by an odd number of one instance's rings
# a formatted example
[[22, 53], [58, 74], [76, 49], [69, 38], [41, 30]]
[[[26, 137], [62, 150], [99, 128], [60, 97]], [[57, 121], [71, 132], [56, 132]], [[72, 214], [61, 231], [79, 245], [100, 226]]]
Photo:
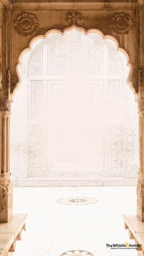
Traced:
[[138, 108], [139, 108], [139, 151], [140, 169], [137, 182], [137, 216], [144, 221], [144, 0], [138, 1], [137, 9], [137, 67], [139, 73]]

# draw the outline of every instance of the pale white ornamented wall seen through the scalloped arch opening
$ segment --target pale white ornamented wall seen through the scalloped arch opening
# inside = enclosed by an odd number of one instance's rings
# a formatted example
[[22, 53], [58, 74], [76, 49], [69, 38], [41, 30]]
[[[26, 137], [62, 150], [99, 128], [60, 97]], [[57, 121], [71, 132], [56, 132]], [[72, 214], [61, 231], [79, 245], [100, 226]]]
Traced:
[[112, 40], [76, 29], [55, 32], [34, 43], [19, 72], [10, 125], [13, 180], [134, 184], [137, 104], [126, 57]]

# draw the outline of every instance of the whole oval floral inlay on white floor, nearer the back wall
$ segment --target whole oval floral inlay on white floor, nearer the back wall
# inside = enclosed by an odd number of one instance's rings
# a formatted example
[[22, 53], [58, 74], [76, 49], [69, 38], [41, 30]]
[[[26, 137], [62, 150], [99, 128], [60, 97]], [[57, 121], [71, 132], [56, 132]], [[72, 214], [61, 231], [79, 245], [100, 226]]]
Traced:
[[97, 203], [98, 200], [91, 197], [65, 197], [57, 200], [57, 202], [63, 203], [63, 205], [91, 205]]

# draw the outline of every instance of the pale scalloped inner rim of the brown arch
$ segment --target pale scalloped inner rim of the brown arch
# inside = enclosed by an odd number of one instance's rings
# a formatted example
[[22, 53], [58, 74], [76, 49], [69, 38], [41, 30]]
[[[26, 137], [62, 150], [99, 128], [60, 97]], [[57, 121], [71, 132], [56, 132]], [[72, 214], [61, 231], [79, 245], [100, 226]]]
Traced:
[[22, 64], [22, 59], [23, 59], [24, 54], [33, 50], [32, 49], [33, 45], [38, 39], [46, 39], [46, 38], [48, 38], [49, 35], [54, 34], [54, 33], [64, 35], [66, 32], [71, 31], [72, 29], [76, 29], [77, 31], [82, 31], [82, 32], [84, 32], [85, 35], [95, 33], [95, 34], [100, 35], [102, 39], [109, 39], [113, 43], [115, 43], [117, 51], [120, 51], [126, 57], [126, 60], [127, 60], [126, 65], [129, 68], [127, 83], [129, 85], [129, 87], [131, 88], [132, 92], [134, 93], [134, 95], [136, 95], [137, 93], [135, 91], [134, 82], [132, 81], [132, 75], [133, 75], [132, 74], [132, 64], [129, 62], [129, 54], [127, 53], [126, 49], [120, 47], [120, 44], [119, 44], [117, 38], [114, 37], [113, 35], [104, 35], [103, 32], [101, 32], [99, 29], [85, 30], [84, 27], [79, 27], [74, 24], [73, 26], [66, 27], [63, 30], [51, 29], [48, 32], [46, 32], [44, 35], [37, 35], [36, 37], [32, 38], [31, 42], [29, 43], [29, 47], [24, 48], [23, 51], [21, 51], [20, 56], [18, 58], [18, 64], [16, 65], [16, 73], [18, 75], [18, 82], [15, 84], [15, 87], [13, 87], [12, 97], [13, 97], [13, 95], [15, 95], [16, 90], [18, 90], [18, 88], [20, 87], [20, 84], [21, 84], [21, 75], [20, 75], [20, 72], [18, 71], [18, 68]]

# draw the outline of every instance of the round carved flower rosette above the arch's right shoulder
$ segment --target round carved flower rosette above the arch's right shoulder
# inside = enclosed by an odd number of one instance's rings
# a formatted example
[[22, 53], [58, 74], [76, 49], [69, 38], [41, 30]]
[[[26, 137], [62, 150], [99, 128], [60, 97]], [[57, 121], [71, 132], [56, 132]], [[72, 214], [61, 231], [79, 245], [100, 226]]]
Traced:
[[125, 12], [115, 13], [110, 20], [110, 29], [117, 34], [128, 34], [133, 26], [134, 21]]

